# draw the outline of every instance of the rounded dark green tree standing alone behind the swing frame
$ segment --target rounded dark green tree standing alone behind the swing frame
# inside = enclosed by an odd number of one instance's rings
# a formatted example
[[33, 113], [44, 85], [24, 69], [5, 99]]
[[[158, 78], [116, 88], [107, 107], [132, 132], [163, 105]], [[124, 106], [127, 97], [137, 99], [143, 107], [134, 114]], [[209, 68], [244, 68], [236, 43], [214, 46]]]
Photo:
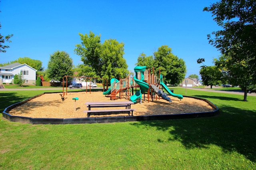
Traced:
[[65, 51], [55, 51], [50, 55], [47, 73], [50, 79], [62, 82], [65, 75], [73, 75], [73, 60]]

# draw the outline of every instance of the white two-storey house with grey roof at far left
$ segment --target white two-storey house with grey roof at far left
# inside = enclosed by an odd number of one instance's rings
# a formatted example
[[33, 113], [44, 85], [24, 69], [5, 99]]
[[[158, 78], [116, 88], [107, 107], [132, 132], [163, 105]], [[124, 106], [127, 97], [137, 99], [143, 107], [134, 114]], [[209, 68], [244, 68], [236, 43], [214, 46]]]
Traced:
[[13, 83], [14, 75], [18, 75], [19, 73], [22, 74], [25, 79], [24, 84], [36, 84], [36, 71], [36, 69], [27, 64], [12, 63], [2, 66], [0, 67], [0, 84]]

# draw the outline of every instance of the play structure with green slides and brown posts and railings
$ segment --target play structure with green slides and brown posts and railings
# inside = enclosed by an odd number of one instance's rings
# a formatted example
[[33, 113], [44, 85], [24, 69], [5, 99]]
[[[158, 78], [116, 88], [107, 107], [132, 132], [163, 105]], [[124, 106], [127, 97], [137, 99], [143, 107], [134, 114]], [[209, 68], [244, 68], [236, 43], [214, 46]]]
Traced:
[[[172, 97], [177, 97], [180, 100], [183, 99], [182, 95], [174, 94], [163, 83], [160, 70], [158, 76], [154, 74], [154, 67], [152, 69], [146, 70], [146, 66], [136, 66], [134, 68], [134, 71], [135, 76], [133, 77], [130, 75], [129, 72], [128, 77], [126, 77], [125, 79], [120, 79], [119, 81], [118, 79], [111, 79], [111, 88], [108, 89], [106, 92], [103, 92], [103, 95], [110, 97], [111, 100], [122, 99], [122, 96], [125, 96], [126, 99], [130, 99], [132, 102], [136, 102], [138, 99], [140, 99], [140, 103], [142, 101], [142, 95], [144, 95], [144, 100], [145, 95], [147, 95], [146, 98], [148, 102], [150, 101], [150, 98], [152, 99], [152, 101], [154, 99], [157, 100], [156, 94], [158, 95], [159, 99], [160, 97], [162, 97], [162, 99], [165, 99], [170, 103], [172, 103], [172, 101], [170, 97], [168, 97], [168, 95]], [[166, 90], [168, 94], [164, 93], [160, 89], [160, 85]], [[136, 91], [135, 94], [133, 94], [134, 88]], [[137, 88], [140, 89], [137, 91]]]

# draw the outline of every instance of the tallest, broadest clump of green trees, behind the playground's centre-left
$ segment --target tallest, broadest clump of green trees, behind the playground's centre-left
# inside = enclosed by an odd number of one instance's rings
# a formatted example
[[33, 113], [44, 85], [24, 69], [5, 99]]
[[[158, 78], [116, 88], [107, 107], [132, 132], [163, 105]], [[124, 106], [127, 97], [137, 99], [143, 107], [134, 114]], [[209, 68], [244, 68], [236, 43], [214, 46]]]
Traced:
[[97, 77], [119, 79], [127, 76], [128, 65], [123, 57], [124, 43], [109, 39], [102, 44], [100, 36], [95, 36], [93, 32], [79, 35], [82, 42], [76, 45], [74, 51], [81, 56], [84, 66], [92, 67]]

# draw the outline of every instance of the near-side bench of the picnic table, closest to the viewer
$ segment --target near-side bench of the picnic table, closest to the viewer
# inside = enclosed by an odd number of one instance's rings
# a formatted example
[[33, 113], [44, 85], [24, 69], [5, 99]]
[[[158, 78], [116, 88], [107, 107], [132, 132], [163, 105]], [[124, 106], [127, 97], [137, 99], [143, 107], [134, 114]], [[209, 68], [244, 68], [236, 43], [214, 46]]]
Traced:
[[132, 112], [132, 116], [133, 116], [133, 111], [136, 111], [136, 109], [114, 109], [114, 110], [88, 110], [88, 111], [84, 111], [84, 113], [87, 113], [87, 117], [90, 117], [90, 115], [112, 115], [113, 113], [128, 113], [128, 115], [130, 116], [130, 112]]

